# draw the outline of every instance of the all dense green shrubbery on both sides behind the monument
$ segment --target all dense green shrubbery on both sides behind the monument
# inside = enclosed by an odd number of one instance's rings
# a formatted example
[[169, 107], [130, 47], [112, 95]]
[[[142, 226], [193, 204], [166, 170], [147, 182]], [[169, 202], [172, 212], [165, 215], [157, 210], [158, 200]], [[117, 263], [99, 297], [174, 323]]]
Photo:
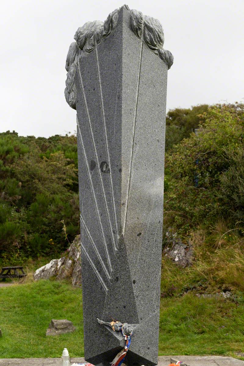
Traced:
[[[166, 125], [166, 227], [186, 234], [220, 218], [242, 231], [244, 105], [176, 108]], [[70, 241], [78, 234], [77, 168], [75, 136], [0, 134], [0, 259], [62, 251], [61, 220]]]

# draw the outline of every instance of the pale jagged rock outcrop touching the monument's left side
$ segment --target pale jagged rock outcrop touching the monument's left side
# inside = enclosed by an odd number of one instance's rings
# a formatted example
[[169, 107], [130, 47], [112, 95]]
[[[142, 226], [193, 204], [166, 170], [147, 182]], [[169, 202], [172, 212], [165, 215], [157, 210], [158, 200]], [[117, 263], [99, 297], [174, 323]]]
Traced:
[[48, 264], [37, 269], [34, 280], [56, 277], [58, 280], [71, 279], [73, 286], [81, 285], [80, 235], [77, 235], [64, 257], [52, 259]]

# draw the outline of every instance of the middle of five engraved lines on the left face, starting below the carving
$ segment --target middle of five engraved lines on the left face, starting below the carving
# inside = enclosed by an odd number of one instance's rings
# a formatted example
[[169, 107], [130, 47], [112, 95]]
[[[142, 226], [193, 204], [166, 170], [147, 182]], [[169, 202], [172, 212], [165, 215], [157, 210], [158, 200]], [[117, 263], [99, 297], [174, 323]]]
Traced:
[[97, 198], [96, 198], [96, 195], [95, 195], [93, 181], [92, 181], [92, 178], [91, 178], [90, 167], [89, 167], [89, 163], [88, 163], [87, 156], [86, 156], [85, 145], [84, 145], [83, 138], [82, 138], [82, 135], [81, 135], [81, 132], [80, 132], [80, 126], [79, 126], [78, 117], [77, 117], [77, 128], [78, 128], [78, 135], [79, 135], [79, 139], [80, 139], [80, 145], [82, 147], [82, 151], [83, 151], [83, 155], [84, 155], [84, 159], [85, 159], [85, 163], [86, 163], [87, 175], [88, 175], [88, 178], [89, 178], [89, 182], [90, 182], [90, 186], [91, 186], [91, 191], [92, 191], [92, 194], [93, 194], [93, 200], [94, 200], [94, 203], [95, 203], [95, 208], [96, 208], [96, 212], [97, 212], [98, 222], [99, 222], [100, 229], [101, 229], [102, 240], [104, 242], [105, 253], [106, 253], [106, 257], [107, 257], [107, 261], [108, 261], [108, 266], [109, 266], [109, 272], [111, 274], [111, 272], [112, 272], [112, 264], [111, 264], [110, 257], [109, 257], [109, 252], [108, 252], [108, 247], [107, 247], [107, 243], [106, 243], [106, 239], [105, 239], [105, 235], [104, 235], [104, 230], [102, 228], [102, 220], [101, 220], [100, 212], [99, 212], [99, 209], [98, 209]]

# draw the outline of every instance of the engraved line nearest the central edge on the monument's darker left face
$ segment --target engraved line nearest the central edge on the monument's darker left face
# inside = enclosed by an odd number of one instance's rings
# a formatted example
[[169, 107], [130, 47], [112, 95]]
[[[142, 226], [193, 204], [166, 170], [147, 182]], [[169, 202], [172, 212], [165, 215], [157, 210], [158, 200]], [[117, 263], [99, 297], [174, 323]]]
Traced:
[[117, 213], [116, 213], [116, 204], [115, 204], [115, 193], [113, 190], [113, 178], [112, 178], [112, 169], [111, 169], [109, 146], [108, 146], [108, 134], [107, 134], [107, 127], [106, 127], [105, 111], [104, 111], [104, 100], [103, 100], [103, 96], [102, 96], [102, 84], [101, 84], [100, 66], [99, 66], [99, 60], [98, 60], [97, 42], [95, 42], [95, 53], [96, 53], [96, 60], [97, 60], [97, 75], [98, 75], [101, 107], [102, 107], [102, 122], [104, 124], [106, 153], [107, 153], [107, 158], [108, 158], [108, 166], [110, 169], [109, 180], [110, 180], [110, 189], [111, 189], [111, 196], [112, 196], [112, 203], [113, 203], [113, 218], [115, 221], [115, 230], [116, 230], [116, 245], [117, 245], [116, 250], [118, 250], [119, 234], [118, 234]]

